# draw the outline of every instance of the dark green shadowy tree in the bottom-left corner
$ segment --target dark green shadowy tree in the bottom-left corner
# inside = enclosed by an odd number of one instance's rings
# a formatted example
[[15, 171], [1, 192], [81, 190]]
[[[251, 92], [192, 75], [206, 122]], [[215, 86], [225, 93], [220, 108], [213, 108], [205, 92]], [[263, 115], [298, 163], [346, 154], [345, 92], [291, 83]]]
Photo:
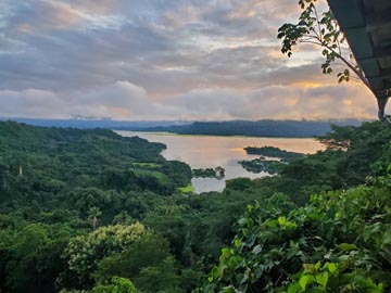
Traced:
[[70, 230], [64, 225], [50, 227], [28, 224], [7, 217], [14, 227], [0, 226], [0, 292], [54, 292], [56, 276], [64, 269], [61, 252], [68, 242]]

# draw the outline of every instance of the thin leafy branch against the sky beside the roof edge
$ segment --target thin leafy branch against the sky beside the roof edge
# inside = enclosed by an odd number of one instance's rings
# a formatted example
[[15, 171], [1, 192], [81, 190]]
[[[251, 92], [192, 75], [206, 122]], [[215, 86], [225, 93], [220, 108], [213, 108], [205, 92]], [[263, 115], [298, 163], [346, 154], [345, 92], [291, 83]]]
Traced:
[[[331, 10], [320, 13], [315, 2], [316, 0], [299, 0], [299, 5], [303, 11], [298, 24], [283, 24], [278, 29], [277, 37], [282, 39], [281, 52], [290, 58], [293, 54], [292, 48], [299, 43], [320, 47], [321, 54], [325, 58], [321, 64], [324, 74], [331, 74], [333, 65], [338, 65], [337, 62], [342, 62], [344, 68], [337, 74], [339, 84], [349, 81], [351, 78], [358, 78], [373, 91], [363, 69], [354, 60]], [[388, 99], [378, 99], [379, 119], [384, 125], [391, 126], [391, 122], [384, 116], [387, 101]]]

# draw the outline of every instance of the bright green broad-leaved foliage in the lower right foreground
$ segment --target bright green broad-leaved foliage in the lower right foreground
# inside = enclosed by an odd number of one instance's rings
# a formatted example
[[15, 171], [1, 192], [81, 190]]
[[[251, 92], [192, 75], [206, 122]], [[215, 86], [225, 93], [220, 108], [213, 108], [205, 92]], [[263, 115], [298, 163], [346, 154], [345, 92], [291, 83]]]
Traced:
[[391, 176], [324, 192], [285, 216], [249, 205], [202, 292], [384, 292]]

